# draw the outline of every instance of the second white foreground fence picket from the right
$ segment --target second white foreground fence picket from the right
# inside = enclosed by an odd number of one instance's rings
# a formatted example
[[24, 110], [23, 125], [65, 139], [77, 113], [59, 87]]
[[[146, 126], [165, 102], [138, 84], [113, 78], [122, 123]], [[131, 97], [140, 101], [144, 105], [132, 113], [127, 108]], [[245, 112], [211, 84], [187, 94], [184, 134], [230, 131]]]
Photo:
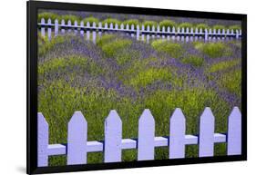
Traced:
[[205, 108], [200, 116], [200, 157], [213, 156], [214, 122], [215, 119], [210, 108]]

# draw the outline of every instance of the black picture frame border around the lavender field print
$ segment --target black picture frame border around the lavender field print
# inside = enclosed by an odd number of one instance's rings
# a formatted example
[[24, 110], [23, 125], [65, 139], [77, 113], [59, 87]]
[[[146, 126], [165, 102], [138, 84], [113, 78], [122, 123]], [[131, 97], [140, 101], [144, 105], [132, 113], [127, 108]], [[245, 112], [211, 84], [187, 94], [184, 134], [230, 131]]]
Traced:
[[[226, 14], [212, 12], [196, 12], [184, 10], [169, 10], [155, 8], [141, 8], [128, 6], [113, 5], [85, 5], [69, 4], [56, 2], [28, 1], [27, 5], [27, 88], [26, 88], [26, 173], [54, 173], [69, 172], [82, 170], [112, 170], [127, 169], [138, 167], [167, 166], [180, 164], [210, 163], [222, 161], [247, 160], [247, 15]], [[37, 160], [37, 10], [38, 9], [56, 9], [56, 10], [73, 10], [73, 11], [90, 11], [90, 12], [108, 12], [122, 14], [138, 15], [170, 15], [170, 16], [188, 16], [203, 17], [208, 19], [226, 19], [241, 20], [241, 55], [242, 55], [242, 79], [241, 79], [241, 114], [242, 114], [242, 145], [241, 155], [235, 156], [218, 156], [205, 158], [186, 158], [175, 160], [141, 160], [129, 162], [100, 163], [87, 165], [67, 165], [56, 167], [36, 167]]]

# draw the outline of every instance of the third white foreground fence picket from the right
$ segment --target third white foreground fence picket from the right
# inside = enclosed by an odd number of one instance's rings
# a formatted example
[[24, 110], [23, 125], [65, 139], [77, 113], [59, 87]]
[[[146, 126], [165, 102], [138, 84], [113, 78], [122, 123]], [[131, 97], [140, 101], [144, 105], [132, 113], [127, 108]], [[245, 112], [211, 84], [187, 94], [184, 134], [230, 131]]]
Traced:
[[169, 159], [185, 157], [186, 120], [177, 108], [169, 119]]

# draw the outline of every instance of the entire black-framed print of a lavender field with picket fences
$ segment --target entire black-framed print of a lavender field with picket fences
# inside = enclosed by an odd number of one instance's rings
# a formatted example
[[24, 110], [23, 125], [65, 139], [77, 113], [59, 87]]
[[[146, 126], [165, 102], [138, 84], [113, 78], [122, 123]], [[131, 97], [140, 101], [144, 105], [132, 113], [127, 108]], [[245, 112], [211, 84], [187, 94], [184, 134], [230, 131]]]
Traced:
[[246, 23], [27, 2], [27, 173], [246, 160]]

